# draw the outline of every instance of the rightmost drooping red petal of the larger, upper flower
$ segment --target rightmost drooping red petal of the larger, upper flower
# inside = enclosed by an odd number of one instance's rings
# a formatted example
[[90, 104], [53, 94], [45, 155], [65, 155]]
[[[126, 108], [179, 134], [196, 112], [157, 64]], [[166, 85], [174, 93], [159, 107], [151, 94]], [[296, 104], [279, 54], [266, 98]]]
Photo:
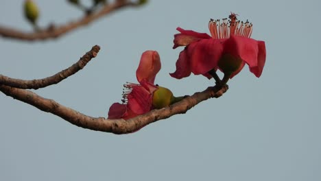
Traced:
[[241, 36], [230, 36], [224, 45], [224, 53], [230, 53], [232, 56], [241, 58], [248, 64], [250, 71], [260, 77], [266, 57], [263, 41]]

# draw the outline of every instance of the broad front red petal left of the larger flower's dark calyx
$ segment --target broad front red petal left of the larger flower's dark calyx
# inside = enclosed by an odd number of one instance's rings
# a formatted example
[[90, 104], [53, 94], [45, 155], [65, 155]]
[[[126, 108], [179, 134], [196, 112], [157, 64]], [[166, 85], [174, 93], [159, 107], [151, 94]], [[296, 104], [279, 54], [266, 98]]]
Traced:
[[189, 45], [191, 72], [195, 75], [206, 74], [217, 69], [217, 61], [222, 56], [224, 40], [205, 39]]

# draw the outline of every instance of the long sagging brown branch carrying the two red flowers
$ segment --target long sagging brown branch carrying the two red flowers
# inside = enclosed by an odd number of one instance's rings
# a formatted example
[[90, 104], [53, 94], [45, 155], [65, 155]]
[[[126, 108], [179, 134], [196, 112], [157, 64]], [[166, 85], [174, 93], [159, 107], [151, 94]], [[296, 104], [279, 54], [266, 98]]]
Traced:
[[160, 119], [167, 119], [174, 114], [183, 114], [201, 101], [211, 97], [220, 97], [226, 92], [226, 90], [228, 90], [227, 85], [222, 87], [209, 87], [201, 93], [195, 93], [169, 107], [159, 110], [151, 110], [150, 112], [142, 114], [138, 117], [124, 120], [105, 119], [104, 117], [89, 117], [71, 108], [62, 106], [52, 99], [40, 97], [32, 91], [0, 85], [0, 91], [5, 95], [13, 97], [14, 99], [18, 99], [19, 101], [23, 101], [45, 112], [55, 114], [69, 123], [72, 123], [73, 125], [95, 131], [111, 132], [114, 134], [127, 134], [135, 132], [143, 128], [145, 125], [154, 123]]

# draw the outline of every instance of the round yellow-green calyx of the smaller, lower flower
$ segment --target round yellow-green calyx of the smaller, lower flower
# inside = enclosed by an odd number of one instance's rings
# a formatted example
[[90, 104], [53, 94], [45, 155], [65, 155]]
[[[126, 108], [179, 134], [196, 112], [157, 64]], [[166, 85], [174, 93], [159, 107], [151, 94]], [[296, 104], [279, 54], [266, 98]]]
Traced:
[[171, 105], [174, 99], [175, 97], [173, 93], [171, 93], [171, 90], [158, 86], [157, 90], [155, 90], [153, 94], [152, 105], [156, 109], [165, 108], [166, 106]]

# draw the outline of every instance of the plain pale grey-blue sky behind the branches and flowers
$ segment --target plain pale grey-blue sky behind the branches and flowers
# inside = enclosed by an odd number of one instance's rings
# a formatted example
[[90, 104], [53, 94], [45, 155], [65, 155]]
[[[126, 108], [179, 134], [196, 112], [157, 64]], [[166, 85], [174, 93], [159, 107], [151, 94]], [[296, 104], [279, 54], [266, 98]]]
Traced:
[[[31, 30], [22, 2], [1, 2], [1, 25]], [[65, 1], [37, 2], [40, 25], [82, 15]], [[321, 180], [320, 7], [317, 0], [150, 1], [57, 40], [0, 37], [0, 74], [23, 79], [52, 75], [100, 45], [85, 69], [35, 91], [93, 117], [106, 117], [122, 84], [136, 82], [147, 49], [162, 61], [156, 83], [175, 95], [213, 85], [169, 76], [181, 51], [171, 49], [178, 26], [209, 34], [210, 18], [235, 12], [267, 49], [259, 79], [244, 67], [223, 97], [134, 134], [78, 128], [0, 93], [0, 180]]]

